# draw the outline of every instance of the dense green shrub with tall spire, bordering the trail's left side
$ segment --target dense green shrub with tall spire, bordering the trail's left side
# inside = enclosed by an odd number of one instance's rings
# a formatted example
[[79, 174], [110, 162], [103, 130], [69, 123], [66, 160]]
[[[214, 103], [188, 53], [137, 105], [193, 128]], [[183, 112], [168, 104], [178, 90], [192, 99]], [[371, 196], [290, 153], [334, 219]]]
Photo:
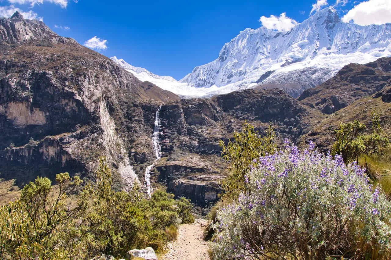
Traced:
[[185, 221], [189, 218], [191, 205], [185, 199], [175, 200], [174, 195], [161, 190], [152, 193], [149, 200], [142, 199], [137, 183], [130, 192], [114, 192], [111, 185], [111, 171], [100, 158], [97, 183], [89, 192], [92, 205], [84, 218], [91, 256], [125, 256], [130, 249], [147, 246], [163, 251], [169, 241], [165, 228], [177, 226], [181, 217]]

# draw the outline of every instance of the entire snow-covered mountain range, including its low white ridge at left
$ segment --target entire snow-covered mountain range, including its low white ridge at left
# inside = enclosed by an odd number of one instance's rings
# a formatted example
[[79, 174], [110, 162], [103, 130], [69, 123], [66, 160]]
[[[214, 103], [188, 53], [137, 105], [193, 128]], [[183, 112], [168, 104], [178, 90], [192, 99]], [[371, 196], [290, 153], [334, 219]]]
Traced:
[[289, 32], [246, 29], [226, 43], [214, 61], [176, 81], [122, 59], [114, 61], [140, 80], [181, 96], [212, 96], [261, 85], [280, 87], [296, 97], [333, 77], [349, 63], [391, 56], [391, 23], [344, 23], [332, 7], [316, 12]]

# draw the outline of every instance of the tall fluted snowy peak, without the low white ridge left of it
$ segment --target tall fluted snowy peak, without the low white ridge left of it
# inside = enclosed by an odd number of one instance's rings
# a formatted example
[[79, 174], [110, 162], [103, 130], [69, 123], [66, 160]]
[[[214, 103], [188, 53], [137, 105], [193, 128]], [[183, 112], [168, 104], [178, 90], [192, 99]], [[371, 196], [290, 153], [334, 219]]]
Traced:
[[[217, 59], [195, 67], [192, 73], [180, 82], [194, 87], [213, 85], [227, 87], [230, 84], [242, 82], [247, 86], [242, 86], [242, 83], [235, 84], [235, 86], [237, 88], [248, 87], [249, 84], [255, 84], [265, 72], [275, 70], [263, 82], [279, 83], [278, 80], [273, 80], [273, 77], [277, 79], [280, 77], [278, 74], [299, 68], [325, 67], [320, 61], [310, 62], [321, 56], [323, 59], [332, 55], [334, 59], [341, 60], [338, 55], [344, 55], [343, 58], [348, 59], [354, 51], [357, 57], [353, 57], [353, 60], [357, 62], [368, 60], [369, 57], [365, 57], [368, 55], [364, 55], [368, 53], [375, 55], [370, 59], [389, 56], [391, 55], [390, 39], [391, 23], [364, 27], [344, 23], [339, 19], [335, 9], [328, 7], [316, 12], [286, 33], [265, 27], [240, 32], [222, 47]], [[377, 52], [378, 48], [384, 48], [383, 53]], [[359, 59], [359, 56], [364, 57]], [[342, 63], [345, 65], [351, 62], [350, 60]], [[328, 79], [342, 68], [340, 64], [335, 63], [331, 61], [327, 63], [328, 67], [330, 65], [334, 67], [334, 72], [316, 75], [320, 73], [317, 72], [312, 74], [312, 77]], [[299, 66], [294, 64], [299, 64]]]

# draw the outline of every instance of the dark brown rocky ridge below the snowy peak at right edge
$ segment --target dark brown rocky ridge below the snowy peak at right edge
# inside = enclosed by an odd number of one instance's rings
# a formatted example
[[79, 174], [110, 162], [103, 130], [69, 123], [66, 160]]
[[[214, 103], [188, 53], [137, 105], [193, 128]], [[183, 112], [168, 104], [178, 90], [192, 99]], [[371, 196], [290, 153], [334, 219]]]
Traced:
[[391, 83], [391, 58], [368, 64], [349, 64], [325, 83], [307, 89], [298, 100], [324, 114], [332, 114], [355, 100], [381, 91]]

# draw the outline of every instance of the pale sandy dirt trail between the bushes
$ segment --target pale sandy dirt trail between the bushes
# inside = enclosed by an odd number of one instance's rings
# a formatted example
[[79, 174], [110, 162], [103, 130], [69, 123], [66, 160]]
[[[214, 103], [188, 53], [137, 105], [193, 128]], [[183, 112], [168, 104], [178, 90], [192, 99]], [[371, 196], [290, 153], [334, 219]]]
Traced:
[[197, 219], [193, 224], [180, 225], [178, 237], [168, 244], [169, 251], [163, 260], [209, 260], [208, 242], [203, 240], [206, 224], [206, 221]]

